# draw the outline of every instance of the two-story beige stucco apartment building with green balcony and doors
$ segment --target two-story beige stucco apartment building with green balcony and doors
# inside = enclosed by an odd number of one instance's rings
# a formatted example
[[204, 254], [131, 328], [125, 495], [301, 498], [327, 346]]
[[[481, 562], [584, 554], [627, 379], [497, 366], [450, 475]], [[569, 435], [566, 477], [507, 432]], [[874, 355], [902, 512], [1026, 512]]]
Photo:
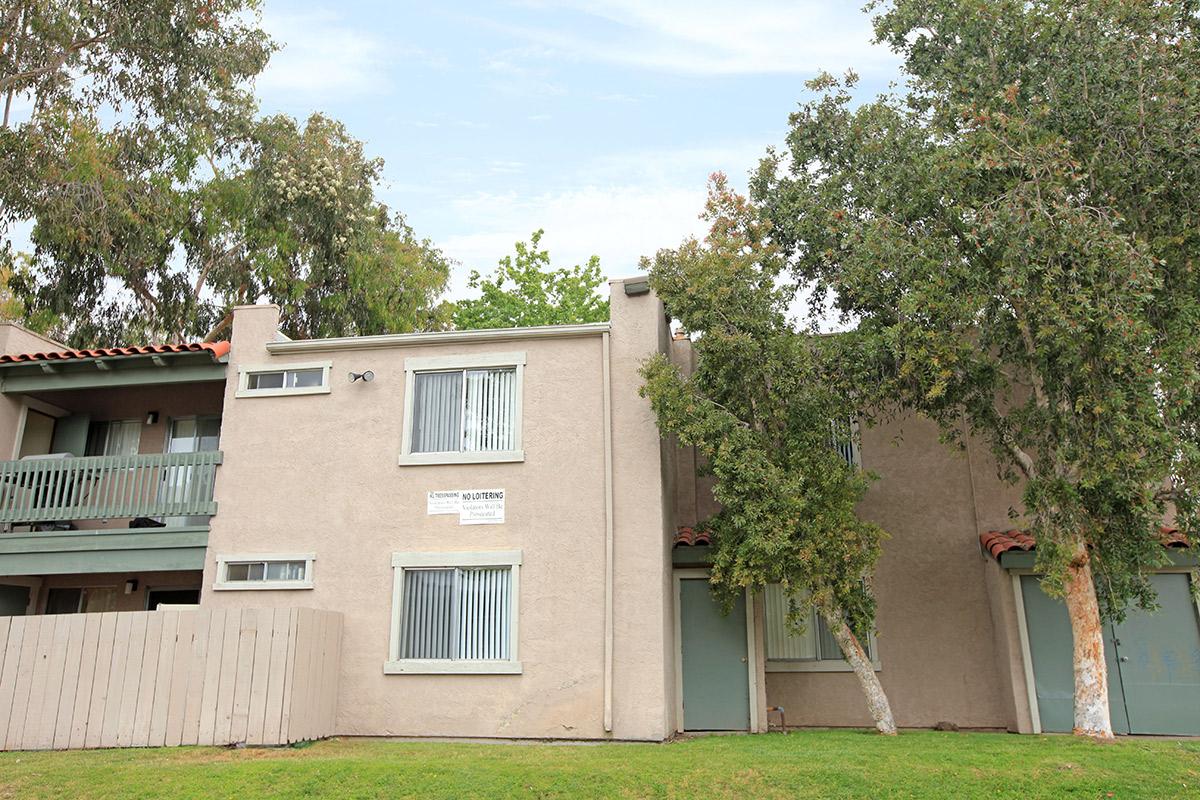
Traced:
[[[689, 343], [644, 279], [611, 288], [595, 325], [288, 341], [250, 306], [229, 342], [92, 351], [0, 327], [0, 615], [341, 612], [340, 734], [868, 723], [775, 588], [712, 602], [712, 494], [637, 392]], [[986, 452], [912, 419], [846, 455], [881, 476], [871, 651], [899, 724], [1061, 729], [1066, 691], [1069, 727], [1066, 614], [1032, 542], [992, 533], [1016, 494]], [[1172, 553], [1163, 610], [1112, 631], [1124, 730], [1200, 733], [1194, 559]]]

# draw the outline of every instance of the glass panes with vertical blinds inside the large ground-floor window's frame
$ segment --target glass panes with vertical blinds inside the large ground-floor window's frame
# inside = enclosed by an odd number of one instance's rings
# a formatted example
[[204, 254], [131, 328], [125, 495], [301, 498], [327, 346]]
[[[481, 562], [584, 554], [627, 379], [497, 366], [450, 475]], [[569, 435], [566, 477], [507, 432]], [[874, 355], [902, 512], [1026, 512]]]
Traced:
[[404, 570], [400, 657], [511, 658], [511, 567]]

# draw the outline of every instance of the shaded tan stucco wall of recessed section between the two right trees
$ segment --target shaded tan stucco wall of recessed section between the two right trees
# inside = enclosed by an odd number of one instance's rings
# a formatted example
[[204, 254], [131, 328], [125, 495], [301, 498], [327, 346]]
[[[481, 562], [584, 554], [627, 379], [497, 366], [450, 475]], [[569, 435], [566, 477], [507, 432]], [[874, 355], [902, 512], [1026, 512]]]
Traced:
[[[862, 513], [890, 534], [875, 590], [880, 681], [896, 723], [1008, 727], [966, 453], [938, 443], [928, 420], [908, 417], [864, 431], [862, 458], [881, 479]], [[790, 723], [870, 724], [851, 673], [768, 673], [767, 696]]]

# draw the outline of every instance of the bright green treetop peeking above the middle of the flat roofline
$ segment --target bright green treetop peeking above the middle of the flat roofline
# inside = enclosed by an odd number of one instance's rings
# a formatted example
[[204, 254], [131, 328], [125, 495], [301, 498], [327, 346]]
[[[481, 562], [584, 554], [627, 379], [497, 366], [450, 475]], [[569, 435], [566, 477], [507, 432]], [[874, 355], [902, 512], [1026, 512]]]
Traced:
[[552, 269], [550, 252], [539, 249], [542, 233], [535, 230], [528, 243], [517, 242], [516, 255], [502, 258], [492, 277], [472, 270], [468, 285], [481, 295], [455, 305], [455, 327], [524, 327], [608, 319], [608, 301], [598, 293], [604, 283], [600, 258], [593, 255], [586, 266]]

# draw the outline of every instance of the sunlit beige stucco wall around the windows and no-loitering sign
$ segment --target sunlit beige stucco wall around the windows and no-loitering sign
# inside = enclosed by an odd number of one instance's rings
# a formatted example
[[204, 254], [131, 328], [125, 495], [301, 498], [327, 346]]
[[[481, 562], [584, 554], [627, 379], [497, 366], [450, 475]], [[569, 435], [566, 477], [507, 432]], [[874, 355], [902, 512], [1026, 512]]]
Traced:
[[[659, 439], [637, 397], [636, 365], [659, 347], [652, 296], [617, 299], [612, 332], [614, 476], [613, 732], [660, 739], [666, 697], [668, 559]], [[605, 735], [602, 338], [270, 355], [277, 312], [234, 317], [230, 380], [202, 603], [304, 604], [346, 614], [337, 733]], [[404, 359], [526, 354], [523, 463], [397, 464]], [[331, 361], [331, 392], [234, 396], [239, 365]], [[373, 383], [350, 384], [349, 371]], [[426, 492], [503, 488], [505, 523], [426, 516]], [[520, 549], [518, 675], [386, 675], [395, 552]], [[316, 553], [314, 588], [215, 591], [224, 553]]]

